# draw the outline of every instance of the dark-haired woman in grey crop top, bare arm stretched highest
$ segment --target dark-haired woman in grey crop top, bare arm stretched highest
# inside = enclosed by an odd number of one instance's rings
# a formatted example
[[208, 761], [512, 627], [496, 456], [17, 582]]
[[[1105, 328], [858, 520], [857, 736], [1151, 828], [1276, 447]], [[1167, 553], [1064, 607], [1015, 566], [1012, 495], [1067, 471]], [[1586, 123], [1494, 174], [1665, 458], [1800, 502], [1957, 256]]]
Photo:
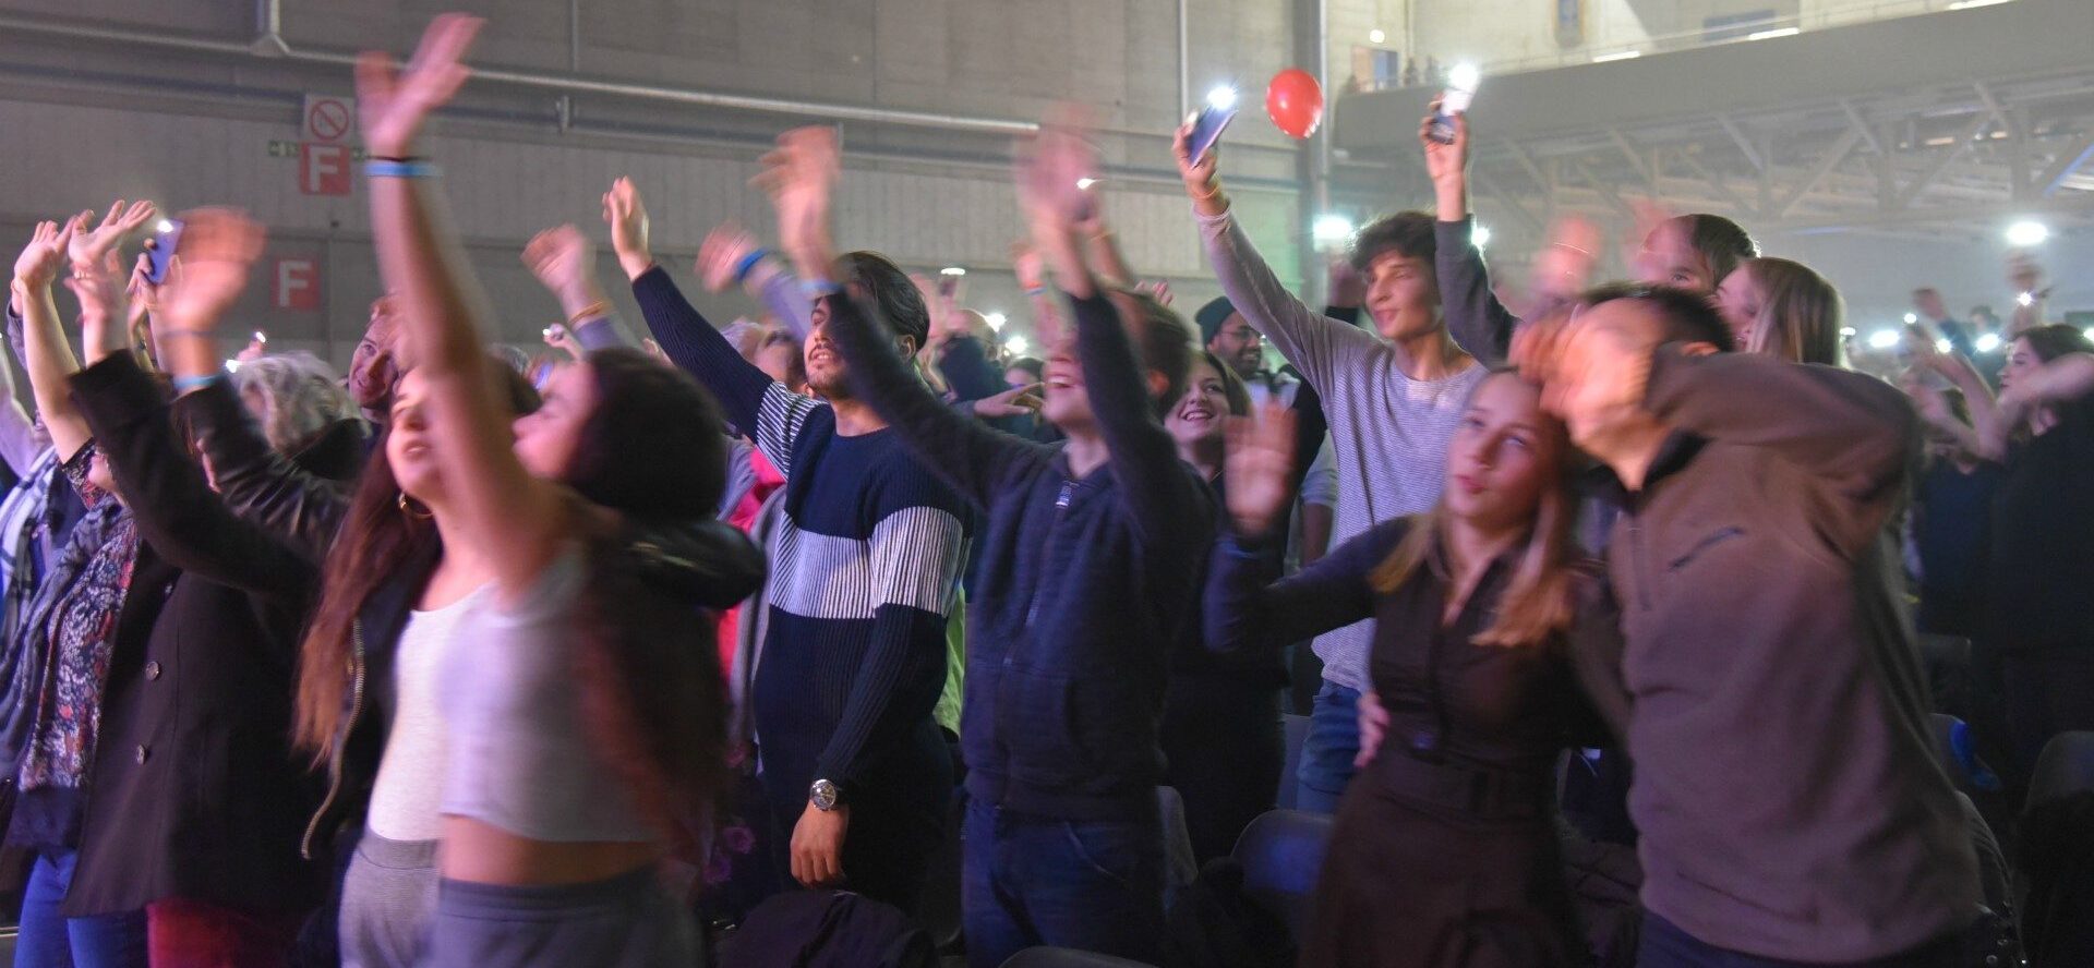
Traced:
[[450, 742], [419, 964], [685, 966], [693, 924], [658, 868], [704, 843], [727, 769], [725, 690], [712, 625], [693, 621], [704, 590], [649, 575], [649, 558], [676, 562], [614, 535], [620, 521], [712, 518], [725, 422], [639, 349], [563, 368], [544, 406], [511, 422], [484, 349], [486, 295], [417, 153], [467, 79], [480, 25], [438, 17], [404, 71], [383, 52], [356, 61], [379, 274], [456, 510], [444, 548], [490, 577], [436, 659]]

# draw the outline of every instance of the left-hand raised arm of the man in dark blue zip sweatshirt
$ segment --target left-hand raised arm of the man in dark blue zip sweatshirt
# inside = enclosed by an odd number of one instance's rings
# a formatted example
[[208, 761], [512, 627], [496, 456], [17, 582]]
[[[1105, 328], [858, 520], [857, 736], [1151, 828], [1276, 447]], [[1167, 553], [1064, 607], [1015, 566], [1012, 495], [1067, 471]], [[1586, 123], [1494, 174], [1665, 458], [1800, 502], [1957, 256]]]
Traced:
[[764, 165], [758, 184], [777, 207], [779, 245], [794, 272], [823, 293], [825, 332], [850, 362], [850, 387], [859, 399], [873, 406], [926, 468], [982, 508], [1003, 491], [1016, 468], [1049, 460], [1047, 447], [995, 433], [934, 397], [873, 322], [873, 309], [836, 284], [829, 236], [829, 197], [842, 165], [836, 132], [785, 132], [777, 151], [764, 155]]

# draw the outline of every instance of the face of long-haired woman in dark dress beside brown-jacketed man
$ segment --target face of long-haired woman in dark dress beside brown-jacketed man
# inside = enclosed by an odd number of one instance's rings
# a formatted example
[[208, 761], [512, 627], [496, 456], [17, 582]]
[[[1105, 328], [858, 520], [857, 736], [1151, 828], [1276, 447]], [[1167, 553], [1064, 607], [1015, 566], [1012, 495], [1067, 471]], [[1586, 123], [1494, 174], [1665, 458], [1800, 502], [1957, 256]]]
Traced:
[[1524, 525], [1560, 475], [1562, 454], [1562, 424], [1541, 412], [1541, 391], [1493, 374], [1447, 441], [1447, 510], [1489, 531]]

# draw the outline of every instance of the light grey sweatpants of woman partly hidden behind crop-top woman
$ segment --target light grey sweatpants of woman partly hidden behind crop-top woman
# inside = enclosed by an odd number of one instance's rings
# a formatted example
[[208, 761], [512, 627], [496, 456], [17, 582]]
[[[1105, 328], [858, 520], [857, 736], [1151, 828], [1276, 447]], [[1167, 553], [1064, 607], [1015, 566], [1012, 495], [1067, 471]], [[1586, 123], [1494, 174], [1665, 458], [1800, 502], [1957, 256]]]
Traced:
[[415, 968], [436, 918], [436, 840], [364, 828], [341, 882], [341, 968]]

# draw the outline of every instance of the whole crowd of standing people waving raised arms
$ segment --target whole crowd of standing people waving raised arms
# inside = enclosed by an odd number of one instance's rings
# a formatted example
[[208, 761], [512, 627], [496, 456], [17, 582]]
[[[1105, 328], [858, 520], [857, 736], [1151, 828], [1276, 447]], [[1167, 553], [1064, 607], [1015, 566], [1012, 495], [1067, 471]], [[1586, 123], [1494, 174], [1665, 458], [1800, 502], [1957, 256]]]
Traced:
[[[1568, 220], [1508, 307], [1464, 117], [1323, 307], [1177, 132], [1225, 291], [1187, 320], [1064, 109], [1018, 146], [1037, 358], [838, 253], [806, 128], [756, 180], [775, 243], [693, 266], [762, 320], [706, 320], [620, 178], [647, 339], [557, 226], [524, 261], [567, 322], [524, 362], [421, 151], [477, 29], [356, 65], [383, 295], [343, 378], [260, 339], [228, 374], [235, 209], [132, 266], [151, 203], [21, 249], [17, 964], [821, 964], [729, 949], [779, 899], [907, 932], [940, 891], [976, 968], [2094, 964], [2094, 792], [2029, 797], [2094, 730], [2084, 332], [2017, 316], [1991, 372], [1916, 324], [1862, 372], [1834, 284], [1705, 213], [1627, 282]], [[1313, 914], [1198, 960], [1282, 799], [1332, 817]]]

